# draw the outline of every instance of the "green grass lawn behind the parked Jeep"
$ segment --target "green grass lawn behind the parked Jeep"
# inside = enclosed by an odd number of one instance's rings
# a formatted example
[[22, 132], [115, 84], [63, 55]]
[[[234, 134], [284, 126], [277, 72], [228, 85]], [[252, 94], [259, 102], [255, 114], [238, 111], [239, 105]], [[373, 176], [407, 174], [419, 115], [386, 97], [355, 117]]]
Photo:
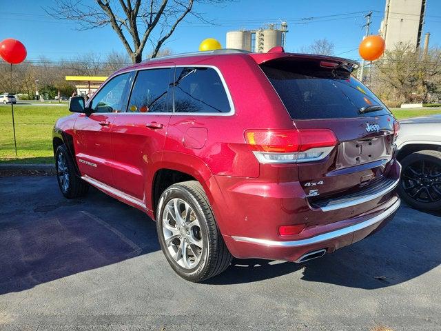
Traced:
[[[397, 119], [441, 114], [441, 108], [391, 111]], [[18, 157], [14, 152], [11, 107], [0, 106], [0, 163], [52, 163], [52, 127], [59, 117], [70, 114], [67, 104], [14, 106], [14, 114]]]

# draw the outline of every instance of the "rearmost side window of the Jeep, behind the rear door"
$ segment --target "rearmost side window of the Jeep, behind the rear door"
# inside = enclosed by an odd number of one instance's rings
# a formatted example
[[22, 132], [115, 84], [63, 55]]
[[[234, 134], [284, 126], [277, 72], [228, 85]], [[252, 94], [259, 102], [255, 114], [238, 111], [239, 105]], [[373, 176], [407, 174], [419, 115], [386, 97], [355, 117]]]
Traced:
[[175, 112], [229, 112], [227, 93], [213, 68], [176, 68]]

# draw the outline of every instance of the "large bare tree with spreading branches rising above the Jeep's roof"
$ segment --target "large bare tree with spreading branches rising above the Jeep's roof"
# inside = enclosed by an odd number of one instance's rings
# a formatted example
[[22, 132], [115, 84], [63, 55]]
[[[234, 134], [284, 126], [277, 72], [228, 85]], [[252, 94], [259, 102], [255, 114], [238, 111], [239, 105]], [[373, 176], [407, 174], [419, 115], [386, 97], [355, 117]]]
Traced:
[[[142, 60], [147, 41], [152, 45], [152, 57], [173, 34], [187, 15], [207, 22], [194, 10], [196, 2], [220, 3], [225, 0], [54, 0], [47, 10], [57, 19], [78, 21], [80, 30], [111, 26], [121, 39], [133, 63]], [[130, 40], [131, 39], [131, 40]]]

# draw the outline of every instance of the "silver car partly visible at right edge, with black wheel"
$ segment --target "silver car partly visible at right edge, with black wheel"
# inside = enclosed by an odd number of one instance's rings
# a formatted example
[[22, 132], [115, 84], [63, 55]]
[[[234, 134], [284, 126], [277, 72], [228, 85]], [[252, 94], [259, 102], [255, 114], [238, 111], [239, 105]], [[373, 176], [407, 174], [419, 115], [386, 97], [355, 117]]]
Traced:
[[400, 197], [414, 208], [441, 210], [441, 115], [400, 121]]

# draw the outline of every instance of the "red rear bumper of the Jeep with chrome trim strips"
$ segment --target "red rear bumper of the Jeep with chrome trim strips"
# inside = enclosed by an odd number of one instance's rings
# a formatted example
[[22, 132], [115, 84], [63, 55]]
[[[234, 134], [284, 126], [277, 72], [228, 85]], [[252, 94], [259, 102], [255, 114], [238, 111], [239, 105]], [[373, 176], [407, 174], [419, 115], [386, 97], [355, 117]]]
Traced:
[[[298, 181], [263, 181], [213, 176], [207, 181], [216, 221], [234, 257], [297, 261], [308, 252], [327, 252], [355, 243], [382, 228], [400, 205], [400, 164], [370, 188], [332, 201], [309, 202]], [[225, 208], [227, 206], [227, 208]], [[280, 225], [305, 224], [281, 236]]]

